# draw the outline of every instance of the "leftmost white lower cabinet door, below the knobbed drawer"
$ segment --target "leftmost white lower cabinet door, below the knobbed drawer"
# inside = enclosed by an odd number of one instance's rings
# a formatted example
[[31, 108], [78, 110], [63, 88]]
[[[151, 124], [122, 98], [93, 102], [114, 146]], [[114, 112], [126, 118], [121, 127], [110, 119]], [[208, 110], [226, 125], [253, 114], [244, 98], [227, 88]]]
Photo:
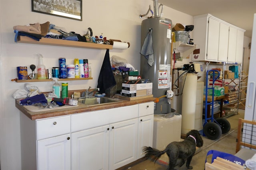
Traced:
[[70, 170], [70, 134], [37, 141], [38, 170]]

